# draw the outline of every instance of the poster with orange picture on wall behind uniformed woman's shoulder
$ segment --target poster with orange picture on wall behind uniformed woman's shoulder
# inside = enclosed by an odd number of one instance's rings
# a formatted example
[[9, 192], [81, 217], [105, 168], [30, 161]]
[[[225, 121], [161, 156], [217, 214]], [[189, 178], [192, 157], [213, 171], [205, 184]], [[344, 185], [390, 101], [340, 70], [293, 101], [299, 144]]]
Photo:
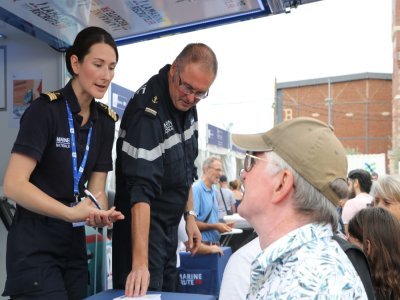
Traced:
[[42, 92], [43, 79], [40, 73], [14, 73], [10, 82], [8, 119], [10, 128], [18, 128], [21, 116], [27, 107]]

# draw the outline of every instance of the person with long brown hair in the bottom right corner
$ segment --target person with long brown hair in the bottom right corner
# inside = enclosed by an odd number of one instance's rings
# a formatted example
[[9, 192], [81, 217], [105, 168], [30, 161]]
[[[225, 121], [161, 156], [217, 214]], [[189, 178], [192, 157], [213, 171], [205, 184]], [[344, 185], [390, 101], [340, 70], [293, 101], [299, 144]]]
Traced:
[[348, 231], [367, 255], [376, 299], [400, 299], [399, 220], [382, 207], [365, 208], [350, 220]]

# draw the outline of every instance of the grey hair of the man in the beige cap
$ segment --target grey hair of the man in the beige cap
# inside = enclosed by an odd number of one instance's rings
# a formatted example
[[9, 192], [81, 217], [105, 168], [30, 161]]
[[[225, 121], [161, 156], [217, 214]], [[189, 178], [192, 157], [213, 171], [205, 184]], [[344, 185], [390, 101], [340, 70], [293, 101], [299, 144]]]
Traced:
[[[271, 175], [289, 170], [294, 178], [293, 206], [299, 213], [307, 215], [312, 222], [331, 224], [335, 232], [338, 228], [338, 212], [331, 201], [308, 183], [286, 161], [275, 152], [267, 152], [268, 171]], [[323, 168], [323, 166], [321, 166]], [[345, 183], [343, 181], [343, 183]]]

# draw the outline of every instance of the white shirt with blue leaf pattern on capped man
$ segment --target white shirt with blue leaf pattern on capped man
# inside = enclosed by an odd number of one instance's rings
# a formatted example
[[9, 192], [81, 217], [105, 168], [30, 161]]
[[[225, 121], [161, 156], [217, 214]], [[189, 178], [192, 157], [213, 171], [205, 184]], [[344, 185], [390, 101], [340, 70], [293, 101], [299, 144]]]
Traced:
[[247, 299], [368, 299], [331, 225], [307, 224], [253, 261]]

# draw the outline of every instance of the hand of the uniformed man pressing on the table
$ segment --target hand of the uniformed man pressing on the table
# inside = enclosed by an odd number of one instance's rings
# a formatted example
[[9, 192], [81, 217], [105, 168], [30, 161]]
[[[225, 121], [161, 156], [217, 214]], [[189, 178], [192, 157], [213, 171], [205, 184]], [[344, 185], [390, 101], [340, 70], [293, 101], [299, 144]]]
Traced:
[[150, 283], [150, 273], [146, 266], [134, 267], [126, 278], [125, 296], [144, 296]]

